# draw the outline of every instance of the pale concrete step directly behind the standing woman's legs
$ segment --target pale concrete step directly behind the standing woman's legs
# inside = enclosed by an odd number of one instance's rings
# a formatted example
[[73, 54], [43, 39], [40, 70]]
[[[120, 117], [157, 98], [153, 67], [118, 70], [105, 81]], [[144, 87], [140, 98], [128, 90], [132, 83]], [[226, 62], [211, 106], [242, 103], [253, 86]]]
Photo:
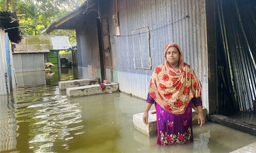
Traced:
[[[204, 116], [207, 121], [206, 115], [206, 108], [203, 107]], [[144, 113], [134, 114], [133, 115], [133, 125], [134, 128], [138, 129], [140, 132], [144, 133], [148, 136], [157, 135], [157, 122], [156, 122], [156, 111], [149, 111], [149, 119], [148, 125], [145, 125], [142, 120], [142, 116]], [[197, 124], [197, 113], [195, 110], [192, 109], [192, 124]]]

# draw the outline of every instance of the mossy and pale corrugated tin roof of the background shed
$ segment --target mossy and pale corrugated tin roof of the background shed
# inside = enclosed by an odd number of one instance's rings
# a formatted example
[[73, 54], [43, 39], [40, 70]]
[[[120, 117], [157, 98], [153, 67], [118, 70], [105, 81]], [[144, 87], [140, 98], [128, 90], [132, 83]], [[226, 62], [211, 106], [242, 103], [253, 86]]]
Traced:
[[50, 50], [65, 50], [70, 47], [66, 36], [24, 36], [22, 41], [12, 43], [13, 53], [44, 53]]

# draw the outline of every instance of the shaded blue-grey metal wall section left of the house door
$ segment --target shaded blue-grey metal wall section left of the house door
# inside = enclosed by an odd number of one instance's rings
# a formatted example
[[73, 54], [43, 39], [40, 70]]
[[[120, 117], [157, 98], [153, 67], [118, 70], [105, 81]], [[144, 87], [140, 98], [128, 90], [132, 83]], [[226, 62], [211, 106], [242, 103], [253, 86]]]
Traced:
[[[85, 19], [83, 18], [84, 16]], [[76, 29], [79, 78], [100, 78], [99, 43], [96, 24], [98, 13], [92, 11], [89, 15], [80, 17], [78, 19], [80, 25]], [[81, 20], [86, 21], [81, 22]]]

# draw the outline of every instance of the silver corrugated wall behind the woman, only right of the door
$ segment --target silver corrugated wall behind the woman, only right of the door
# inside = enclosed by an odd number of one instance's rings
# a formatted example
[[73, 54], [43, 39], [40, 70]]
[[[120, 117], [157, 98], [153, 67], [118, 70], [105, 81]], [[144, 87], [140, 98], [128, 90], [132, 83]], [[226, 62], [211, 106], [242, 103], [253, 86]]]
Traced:
[[[184, 61], [191, 65], [202, 82], [203, 102], [204, 106], [208, 107], [205, 1], [121, 0], [118, 1], [118, 11], [121, 36], [114, 36], [111, 40], [113, 52], [115, 50], [114, 65], [118, 71], [120, 90], [146, 98], [153, 70], [164, 62], [164, 48], [168, 43], [176, 42], [184, 53]], [[111, 13], [109, 18], [110, 15]], [[189, 15], [189, 18], [182, 19], [186, 15]], [[174, 23], [175, 21], [177, 22]], [[115, 29], [110, 27], [113, 36]], [[132, 37], [125, 36], [143, 27], [149, 27], [150, 30], [152, 70], [134, 68]]]

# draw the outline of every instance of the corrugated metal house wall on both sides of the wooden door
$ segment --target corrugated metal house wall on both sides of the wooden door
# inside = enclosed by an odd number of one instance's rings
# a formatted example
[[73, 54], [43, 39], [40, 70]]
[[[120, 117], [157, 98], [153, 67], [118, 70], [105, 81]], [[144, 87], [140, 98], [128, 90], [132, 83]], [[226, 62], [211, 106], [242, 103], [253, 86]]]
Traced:
[[[208, 54], [205, 0], [118, 1], [121, 36], [112, 21], [112, 1], [100, 2], [100, 13], [107, 14], [113, 53], [114, 81], [120, 91], [146, 98], [153, 70], [164, 62], [164, 48], [176, 42], [203, 85], [203, 104], [208, 108]], [[98, 6], [96, 8], [98, 10]], [[98, 12], [85, 17], [77, 29], [79, 77], [89, 77], [88, 65], [99, 67], [96, 18]], [[189, 18], [185, 18], [189, 15]], [[184, 18], [184, 19], [182, 19]], [[179, 21], [178, 21], [179, 20]], [[176, 22], [177, 21], [177, 22]], [[173, 24], [172, 24], [173, 23]], [[132, 31], [149, 27], [152, 70], [135, 69]], [[98, 70], [98, 69], [97, 69]], [[100, 75], [100, 71], [96, 71]]]

